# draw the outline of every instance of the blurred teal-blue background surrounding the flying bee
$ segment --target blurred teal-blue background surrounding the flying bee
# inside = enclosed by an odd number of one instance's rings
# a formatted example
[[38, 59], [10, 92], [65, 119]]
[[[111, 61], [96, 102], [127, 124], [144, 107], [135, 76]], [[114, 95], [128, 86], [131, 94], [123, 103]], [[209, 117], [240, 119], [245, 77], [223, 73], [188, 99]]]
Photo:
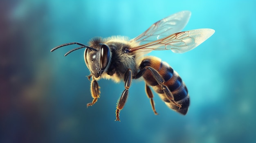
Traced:
[[[1, 143], [253, 143], [256, 142], [255, 0], [1, 0]], [[143, 81], [133, 81], [115, 122], [124, 83], [100, 80], [94, 106], [83, 50], [50, 53], [95, 36], [130, 38], [173, 13], [189, 10], [184, 30], [215, 33], [192, 51], [155, 51], [182, 77], [188, 114], [170, 110], [155, 94], [154, 115]]]

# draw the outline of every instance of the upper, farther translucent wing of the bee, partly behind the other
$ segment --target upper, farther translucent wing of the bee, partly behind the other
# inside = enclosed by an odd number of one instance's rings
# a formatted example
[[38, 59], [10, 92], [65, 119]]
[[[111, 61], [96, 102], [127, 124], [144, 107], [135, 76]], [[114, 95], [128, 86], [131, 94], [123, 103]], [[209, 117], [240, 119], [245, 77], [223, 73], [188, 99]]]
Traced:
[[142, 45], [148, 42], [162, 39], [163, 37], [173, 33], [180, 32], [188, 23], [190, 15], [190, 11], [181, 11], [170, 15], [162, 20], [155, 22], [144, 33], [132, 40], [135, 40]]

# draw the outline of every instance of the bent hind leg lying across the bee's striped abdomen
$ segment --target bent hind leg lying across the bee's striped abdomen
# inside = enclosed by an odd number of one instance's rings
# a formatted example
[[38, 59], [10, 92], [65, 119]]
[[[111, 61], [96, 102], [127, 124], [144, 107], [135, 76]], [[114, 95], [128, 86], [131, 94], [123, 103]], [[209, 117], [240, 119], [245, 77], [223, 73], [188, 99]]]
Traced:
[[171, 93], [169, 88], [164, 85], [163, 77], [161, 77], [161, 75], [157, 72], [157, 70], [155, 70], [151, 66], [145, 66], [144, 68], [142, 68], [139, 71], [139, 73], [137, 73], [137, 75], [135, 75], [134, 78], [137, 79], [137, 78], [141, 77], [146, 72], [146, 70], [149, 70], [152, 73], [155, 81], [157, 81], [157, 83], [161, 86], [162, 90], [164, 90], [164, 93], [166, 94], [166, 96], [169, 99], [169, 101], [171, 103], [173, 103], [174, 105], [178, 106], [179, 108], [181, 108], [181, 105], [179, 103], [177, 103], [176, 101], [174, 101], [173, 94]]

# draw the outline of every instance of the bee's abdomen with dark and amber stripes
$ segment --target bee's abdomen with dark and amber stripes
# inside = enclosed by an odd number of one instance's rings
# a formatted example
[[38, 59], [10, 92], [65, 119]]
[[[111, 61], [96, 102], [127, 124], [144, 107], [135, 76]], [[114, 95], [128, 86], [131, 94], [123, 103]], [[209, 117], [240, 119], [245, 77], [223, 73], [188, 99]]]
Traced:
[[166, 62], [162, 62], [162, 60], [157, 57], [145, 57], [140, 64], [140, 69], [144, 68], [145, 66], [151, 66], [152, 68], [157, 70], [159, 75], [161, 75], [165, 81], [164, 85], [167, 86], [171, 91], [174, 101], [181, 104], [182, 107], [179, 109], [178, 106], [175, 106], [166, 98], [166, 94], [161, 89], [161, 86], [157, 83], [157, 81], [155, 81], [153, 75], [150, 72], [146, 72], [143, 75], [146, 84], [148, 86], [151, 86], [155, 90], [155, 92], [158, 93], [158, 95], [169, 108], [185, 115], [189, 109], [189, 93], [186, 85], [184, 84], [178, 73], [173, 70], [173, 68], [171, 68], [169, 64], [167, 64]]

